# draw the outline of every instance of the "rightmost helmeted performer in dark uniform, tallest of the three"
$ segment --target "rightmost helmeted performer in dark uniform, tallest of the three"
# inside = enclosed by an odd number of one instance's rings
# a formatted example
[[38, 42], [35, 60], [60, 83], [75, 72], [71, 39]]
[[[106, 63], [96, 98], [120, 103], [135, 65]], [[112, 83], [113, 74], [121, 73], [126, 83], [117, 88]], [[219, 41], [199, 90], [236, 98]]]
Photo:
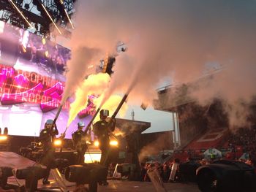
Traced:
[[[99, 141], [99, 149], [102, 151], [102, 155], [100, 158], [100, 164], [105, 166], [108, 169], [110, 164], [110, 155], [108, 155], [110, 150], [110, 132], [115, 130], [116, 126], [116, 119], [113, 118], [111, 122], [107, 122], [107, 118], [109, 115], [108, 110], [100, 110], [99, 118], [100, 120], [94, 123], [94, 134], [96, 134], [98, 141]], [[107, 182], [107, 175], [105, 176], [105, 180], [102, 185], [108, 185]]]

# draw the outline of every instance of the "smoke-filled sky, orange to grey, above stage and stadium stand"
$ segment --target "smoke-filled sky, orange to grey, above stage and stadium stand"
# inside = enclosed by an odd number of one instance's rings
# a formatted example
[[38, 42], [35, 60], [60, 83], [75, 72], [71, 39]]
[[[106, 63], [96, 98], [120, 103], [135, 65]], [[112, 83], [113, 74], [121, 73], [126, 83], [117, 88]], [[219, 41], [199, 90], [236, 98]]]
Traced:
[[151, 104], [165, 80], [190, 82], [217, 65], [225, 70], [190, 88], [191, 96], [199, 104], [221, 98], [230, 125], [246, 123], [241, 101], [248, 104], [256, 92], [255, 0], [76, 2], [75, 29], [65, 45], [72, 59], [63, 101], [80, 87], [88, 66], [106, 53], [116, 55], [122, 41], [128, 49], [116, 57], [107, 88], [97, 85], [104, 95], [101, 104], [120, 93], [129, 93], [131, 106]]

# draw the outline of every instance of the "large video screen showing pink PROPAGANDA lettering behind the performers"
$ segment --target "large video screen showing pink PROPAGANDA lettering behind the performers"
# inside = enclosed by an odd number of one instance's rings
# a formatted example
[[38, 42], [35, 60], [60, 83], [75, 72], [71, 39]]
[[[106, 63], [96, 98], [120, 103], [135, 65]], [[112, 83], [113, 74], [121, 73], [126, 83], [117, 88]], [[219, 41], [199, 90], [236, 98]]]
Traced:
[[[0, 21], [0, 127], [10, 135], [39, 136], [47, 119], [58, 110], [65, 86], [69, 49], [29, 31]], [[56, 122], [61, 134], [66, 126], [69, 101]], [[91, 104], [81, 111], [67, 129], [71, 138], [77, 123], [89, 123]]]

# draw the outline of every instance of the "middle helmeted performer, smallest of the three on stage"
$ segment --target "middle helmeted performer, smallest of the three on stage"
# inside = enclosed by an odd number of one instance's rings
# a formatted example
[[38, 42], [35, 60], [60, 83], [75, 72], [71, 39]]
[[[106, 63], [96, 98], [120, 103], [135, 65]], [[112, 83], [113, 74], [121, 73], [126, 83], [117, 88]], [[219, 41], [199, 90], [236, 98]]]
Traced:
[[72, 140], [75, 146], [75, 150], [78, 152], [78, 164], [84, 164], [84, 155], [86, 154], [86, 132], [83, 131], [85, 127], [83, 121], [78, 123], [78, 130], [72, 134]]

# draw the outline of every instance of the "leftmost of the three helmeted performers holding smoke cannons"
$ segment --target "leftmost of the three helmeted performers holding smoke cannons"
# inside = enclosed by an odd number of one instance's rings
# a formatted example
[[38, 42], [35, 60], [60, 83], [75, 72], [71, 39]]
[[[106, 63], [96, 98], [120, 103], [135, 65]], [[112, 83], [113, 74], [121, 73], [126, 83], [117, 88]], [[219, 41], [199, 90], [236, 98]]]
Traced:
[[48, 177], [50, 174], [50, 169], [53, 168], [54, 162], [54, 153], [55, 148], [53, 146], [53, 141], [56, 138], [56, 135], [59, 134], [56, 124], [53, 124], [53, 120], [48, 119], [45, 122], [45, 128], [39, 134], [39, 140], [42, 142], [42, 158], [41, 162], [44, 164], [47, 169], [45, 173], [45, 177], [42, 180], [44, 185], [50, 184], [48, 181]]

